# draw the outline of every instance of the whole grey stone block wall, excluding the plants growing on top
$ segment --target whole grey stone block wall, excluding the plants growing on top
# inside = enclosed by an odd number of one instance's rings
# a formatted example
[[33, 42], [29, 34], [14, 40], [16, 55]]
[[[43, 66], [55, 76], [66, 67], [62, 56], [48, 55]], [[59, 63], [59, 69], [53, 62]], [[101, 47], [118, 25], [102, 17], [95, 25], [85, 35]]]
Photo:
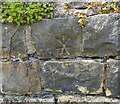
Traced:
[[1, 24], [1, 102], [119, 102], [120, 14], [92, 11], [81, 28], [78, 4], [54, 3], [55, 18], [32, 25]]

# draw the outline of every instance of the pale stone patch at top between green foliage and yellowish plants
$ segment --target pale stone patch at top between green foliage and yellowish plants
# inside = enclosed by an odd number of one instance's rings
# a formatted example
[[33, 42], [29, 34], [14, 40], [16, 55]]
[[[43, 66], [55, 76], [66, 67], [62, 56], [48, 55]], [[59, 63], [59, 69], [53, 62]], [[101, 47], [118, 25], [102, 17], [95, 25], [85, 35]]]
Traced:
[[[70, 10], [67, 10], [66, 4], [70, 5]], [[73, 16], [76, 10], [81, 10], [87, 8], [86, 6], [88, 3], [86, 2], [54, 2], [53, 3], [55, 10], [54, 10], [54, 17], [68, 17]]]

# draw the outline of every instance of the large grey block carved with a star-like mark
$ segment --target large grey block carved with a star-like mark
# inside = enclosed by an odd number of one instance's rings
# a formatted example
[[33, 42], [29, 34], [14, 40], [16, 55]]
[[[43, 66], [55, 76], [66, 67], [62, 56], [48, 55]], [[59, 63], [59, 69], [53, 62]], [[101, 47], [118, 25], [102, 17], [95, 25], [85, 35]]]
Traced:
[[36, 54], [41, 58], [77, 57], [81, 52], [82, 34], [74, 17], [43, 20], [32, 25]]

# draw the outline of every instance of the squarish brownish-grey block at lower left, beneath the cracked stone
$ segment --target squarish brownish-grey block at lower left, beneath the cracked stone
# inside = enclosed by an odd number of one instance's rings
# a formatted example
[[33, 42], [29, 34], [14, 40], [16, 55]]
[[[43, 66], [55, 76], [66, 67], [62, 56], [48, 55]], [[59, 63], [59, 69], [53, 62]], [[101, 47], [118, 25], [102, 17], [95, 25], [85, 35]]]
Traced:
[[37, 61], [0, 62], [2, 65], [2, 93], [39, 94], [41, 90]]

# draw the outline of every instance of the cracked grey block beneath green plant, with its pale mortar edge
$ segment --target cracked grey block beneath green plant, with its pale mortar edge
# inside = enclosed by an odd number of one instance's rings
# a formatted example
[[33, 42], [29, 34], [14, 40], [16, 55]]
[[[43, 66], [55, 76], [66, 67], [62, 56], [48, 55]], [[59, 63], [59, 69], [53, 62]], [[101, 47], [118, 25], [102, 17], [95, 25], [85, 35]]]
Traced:
[[31, 26], [2, 24], [2, 58], [16, 57], [27, 60], [28, 54], [34, 54], [36, 48], [31, 37]]

